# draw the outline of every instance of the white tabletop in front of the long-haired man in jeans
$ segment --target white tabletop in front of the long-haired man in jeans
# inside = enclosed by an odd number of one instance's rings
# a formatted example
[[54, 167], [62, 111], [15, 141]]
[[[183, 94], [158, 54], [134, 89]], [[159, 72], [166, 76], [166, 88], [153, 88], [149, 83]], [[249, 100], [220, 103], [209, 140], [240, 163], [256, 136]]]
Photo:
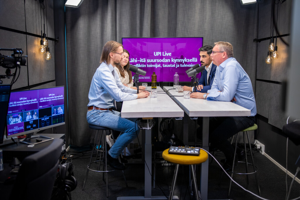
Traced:
[[[147, 88], [148, 91], [150, 87]], [[183, 110], [167, 95], [161, 87], [157, 87], [157, 98], [135, 99], [123, 101], [122, 118], [142, 117], [183, 117]], [[164, 93], [164, 94], [160, 94]]]

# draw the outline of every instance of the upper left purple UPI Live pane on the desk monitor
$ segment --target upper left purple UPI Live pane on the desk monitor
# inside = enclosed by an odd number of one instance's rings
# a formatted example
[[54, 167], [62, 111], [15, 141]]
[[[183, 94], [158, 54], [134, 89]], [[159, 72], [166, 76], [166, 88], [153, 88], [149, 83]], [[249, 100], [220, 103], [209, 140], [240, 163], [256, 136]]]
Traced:
[[[31, 102], [34, 102], [34, 103], [30, 103], [30, 100], [32, 100]], [[25, 101], [25, 102], [22, 103], [22, 101]], [[29, 102], [27, 102], [27, 101], [29, 101]], [[27, 103], [29, 103], [29, 104], [27, 104]], [[25, 109], [25, 111], [38, 109], [38, 90], [12, 92], [10, 94], [8, 111], [7, 111], [8, 114], [15, 113], [15, 112], [24, 112], [24, 111], [21, 111], [24, 109]]]

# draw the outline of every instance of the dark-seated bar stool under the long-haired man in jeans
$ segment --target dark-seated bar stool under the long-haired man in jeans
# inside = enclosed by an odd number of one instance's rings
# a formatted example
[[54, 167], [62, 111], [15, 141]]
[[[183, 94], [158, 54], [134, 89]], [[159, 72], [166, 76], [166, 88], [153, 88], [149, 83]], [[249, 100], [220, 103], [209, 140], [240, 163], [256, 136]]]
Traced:
[[[113, 134], [112, 134], [113, 131], [110, 128], [107, 128], [107, 127], [94, 126], [94, 125], [91, 125], [91, 124], [89, 124], [88, 127], [90, 127], [91, 129], [97, 130], [97, 133], [96, 133], [96, 136], [95, 136], [93, 150], [91, 152], [90, 162], [88, 163], [88, 166], [87, 166], [88, 169], [86, 171], [86, 175], [85, 175], [85, 179], [84, 179], [84, 182], [83, 182], [82, 190], [84, 190], [85, 182], [86, 182], [86, 179], [88, 177], [89, 170], [94, 171], [94, 172], [103, 172], [102, 179], [104, 181], [104, 173], [105, 173], [105, 177], [106, 177], [106, 181], [105, 181], [105, 184], [106, 184], [106, 197], [108, 197], [107, 172], [113, 172], [113, 171], [115, 171], [115, 169], [112, 169], [112, 170], [107, 169], [106, 130], [110, 131], [110, 134], [112, 135], [112, 137], [113, 137]], [[96, 145], [99, 130], [101, 130], [101, 135], [100, 135], [99, 144]], [[115, 141], [114, 138], [113, 138], [113, 140]], [[94, 151], [97, 151], [97, 154], [96, 154], [95, 161], [92, 162]], [[99, 155], [99, 160], [97, 160], [98, 159], [98, 153], [100, 154]], [[91, 163], [97, 163], [97, 162], [99, 162], [98, 170], [91, 167]], [[101, 162], [103, 163], [103, 170], [102, 171], [100, 170]], [[119, 158], [119, 162], [121, 163], [120, 158]], [[122, 173], [123, 173], [123, 177], [124, 177], [124, 180], [125, 180], [125, 183], [126, 183], [126, 187], [128, 187], [128, 184], [127, 184], [127, 181], [126, 181], [123, 170], [122, 170]]]

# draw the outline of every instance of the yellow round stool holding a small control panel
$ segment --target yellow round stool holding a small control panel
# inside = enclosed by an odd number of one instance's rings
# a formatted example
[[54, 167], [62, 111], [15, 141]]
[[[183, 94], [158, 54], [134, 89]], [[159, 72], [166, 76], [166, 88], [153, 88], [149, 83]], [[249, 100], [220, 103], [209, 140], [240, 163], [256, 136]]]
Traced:
[[204, 163], [208, 158], [208, 154], [205, 151], [203, 151], [202, 149], [200, 149], [200, 154], [198, 156], [169, 154], [168, 151], [169, 151], [169, 149], [166, 149], [163, 152], [164, 160], [166, 160], [170, 163], [176, 164], [169, 200], [172, 200], [172, 198], [173, 198], [173, 193], [174, 193], [174, 188], [175, 188], [175, 183], [176, 183], [176, 179], [177, 179], [179, 165], [190, 165], [191, 166], [193, 184], [194, 184], [194, 188], [196, 190], [195, 191], [196, 199], [199, 199], [198, 192], [197, 192], [196, 175], [195, 175], [195, 172], [194, 172], [193, 165], [198, 165], [200, 163]]

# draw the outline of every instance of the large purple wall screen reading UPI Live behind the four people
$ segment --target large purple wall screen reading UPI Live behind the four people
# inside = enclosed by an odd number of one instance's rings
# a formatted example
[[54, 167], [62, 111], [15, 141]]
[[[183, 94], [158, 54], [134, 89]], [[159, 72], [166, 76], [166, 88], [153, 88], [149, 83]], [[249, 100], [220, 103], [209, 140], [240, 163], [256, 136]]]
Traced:
[[139, 76], [139, 81], [151, 82], [155, 72], [157, 82], [173, 82], [177, 72], [180, 82], [189, 82], [191, 78], [185, 71], [200, 64], [198, 49], [203, 45], [203, 38], [122, 38], [122, 44], [130, 54], [130, 64], [147, 72], [146, 76]]

